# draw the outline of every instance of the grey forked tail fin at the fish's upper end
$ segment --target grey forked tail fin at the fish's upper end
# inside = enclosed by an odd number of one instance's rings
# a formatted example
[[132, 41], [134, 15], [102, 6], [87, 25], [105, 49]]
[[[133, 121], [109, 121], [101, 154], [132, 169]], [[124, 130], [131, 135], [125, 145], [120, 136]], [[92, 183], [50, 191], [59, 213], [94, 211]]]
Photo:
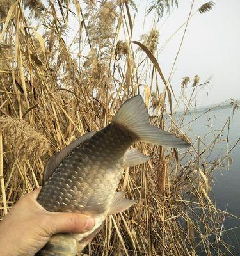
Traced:
[[116, 112], [113, 123], [134, 132], [139, 141], [172, 148], [188, 148], [190, 144], [148, 123], [148, 111], [140, 95], [127, 100]]

